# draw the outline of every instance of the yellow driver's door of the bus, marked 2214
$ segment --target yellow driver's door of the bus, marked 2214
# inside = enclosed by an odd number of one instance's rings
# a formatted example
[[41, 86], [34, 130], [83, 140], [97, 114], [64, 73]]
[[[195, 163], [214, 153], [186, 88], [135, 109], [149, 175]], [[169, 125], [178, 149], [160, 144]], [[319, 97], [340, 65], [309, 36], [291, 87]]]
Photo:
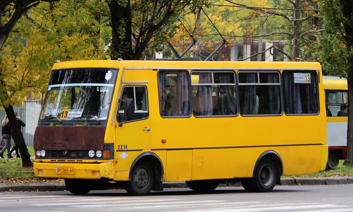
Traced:
[[137, 153], [151, 148], [147, 90], [146, 85], [123, 84], [120, 91], [120, 99], [133, 100], [134, 113], [132, 120], [125, 122], [124, 106], [122, 101], [120, 102], [118, 116], [115, 117], [119, 123], [122, 123], [121, 126], [115, 128], [115, 171], [118, 178], [119, 172], [126, 172], [130, 169]]

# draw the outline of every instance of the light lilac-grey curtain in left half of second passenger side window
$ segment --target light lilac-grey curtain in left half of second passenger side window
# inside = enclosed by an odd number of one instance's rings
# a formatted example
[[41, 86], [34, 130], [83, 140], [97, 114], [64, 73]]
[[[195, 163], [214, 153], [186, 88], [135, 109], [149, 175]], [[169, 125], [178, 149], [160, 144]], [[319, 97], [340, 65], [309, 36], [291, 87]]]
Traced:
[[[212, 84], [212, 73], [199, 73], [199, 84]], [[200, 116], [212, 116], [213, 101], [212, 101], [212, 86], [198, 86], [199, 111]]]

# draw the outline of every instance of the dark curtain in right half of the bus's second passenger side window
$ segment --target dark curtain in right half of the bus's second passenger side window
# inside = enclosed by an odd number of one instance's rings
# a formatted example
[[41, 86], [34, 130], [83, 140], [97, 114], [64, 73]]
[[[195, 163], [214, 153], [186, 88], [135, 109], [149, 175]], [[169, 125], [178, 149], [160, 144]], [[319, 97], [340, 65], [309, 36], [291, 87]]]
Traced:
[[[234, 82], [229, 82], [229, 76], [228, 73], [220, 73], [220, 83], [234, 83]], [[219, 98], [219, 104], [220, 104], [220, 111], [218, 112], [218, 115], [235, 115], [237, 114], [237, 101], [234, 98], [234, 91], [232, 92], [232, 88], [234, 86], [231, 85], [225, 85], [225, 86], [220, 86], [220, 98]]]

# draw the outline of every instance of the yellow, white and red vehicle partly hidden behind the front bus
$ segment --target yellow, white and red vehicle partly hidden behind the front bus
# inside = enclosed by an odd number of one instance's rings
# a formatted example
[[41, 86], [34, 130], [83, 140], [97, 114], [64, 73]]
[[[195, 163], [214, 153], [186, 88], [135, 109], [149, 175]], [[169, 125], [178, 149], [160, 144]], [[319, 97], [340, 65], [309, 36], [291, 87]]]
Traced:
[[[347, 79], [323, 76], [327, 115], [327, 145], [329, 154], [327, 169], [334, 169], [346, 158], [348, 117], [340, 115], [341, 107], [348, 104]], [[342, 109], [344, 110], [344, 109]], [[345, 114], [346, 115], [346, 114]]]

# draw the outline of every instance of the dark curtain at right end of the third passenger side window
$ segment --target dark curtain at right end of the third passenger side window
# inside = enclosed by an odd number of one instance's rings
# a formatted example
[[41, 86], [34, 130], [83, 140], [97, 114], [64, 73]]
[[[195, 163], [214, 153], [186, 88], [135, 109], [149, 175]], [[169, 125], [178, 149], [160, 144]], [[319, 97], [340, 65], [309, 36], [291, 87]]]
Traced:
[[[277, 74], [269, 73], [267, 75], [268, 83], [280, 83]], [[270, 100], [270, 112], [271, 114], [280, 114], [281, 99], [280, 99], [280, 86], [269, 86], [268, 95]]]

